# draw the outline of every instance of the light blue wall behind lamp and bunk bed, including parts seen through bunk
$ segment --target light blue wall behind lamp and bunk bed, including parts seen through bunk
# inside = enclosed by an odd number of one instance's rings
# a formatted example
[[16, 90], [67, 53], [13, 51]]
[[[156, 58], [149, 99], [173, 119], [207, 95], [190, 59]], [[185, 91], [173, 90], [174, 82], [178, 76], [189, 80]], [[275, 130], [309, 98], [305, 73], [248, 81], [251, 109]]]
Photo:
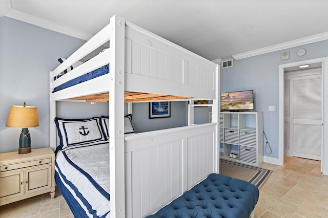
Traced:
[[[5, 124], [10, 106], [22, 105], [23, 102], [36, 106], [38, 110], [39, 126], [29, 128], [32, 149], [49, 147], [49, 72], [58, 66], [58, 58], [68, 57], [84, 43], [84, 40], [22, 21], [0, 18], [1, 153], [18, 150], [21, 129], [6, 127]], [[127, 114], [127, 105], [124, 110]], [[148, 103], [136, 103], [133, 106], [133, 124], [137, 132], [184, 126], [188, 124], [187, 111], [186, 102], [172, 102], [171, 118], [148, 119]], [[88, 118], [108, 114], [107, 103], [57, 104], [57, 116], [62, 118]], [[208, 115], [204, 119], [208, 119]]]

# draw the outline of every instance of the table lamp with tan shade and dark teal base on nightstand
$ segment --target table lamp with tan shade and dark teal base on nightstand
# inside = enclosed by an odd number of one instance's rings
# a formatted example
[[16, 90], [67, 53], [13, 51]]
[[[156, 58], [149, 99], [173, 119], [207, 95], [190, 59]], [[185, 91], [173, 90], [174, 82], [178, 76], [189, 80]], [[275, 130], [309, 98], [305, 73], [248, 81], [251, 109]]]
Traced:
[[18, 154], [31, 152], [31, 136], [28, 127], [39, 125], [37, 108], [33, 106], [12, 105], [10, 107], [6, 126], [23, 128], [19, 136]]

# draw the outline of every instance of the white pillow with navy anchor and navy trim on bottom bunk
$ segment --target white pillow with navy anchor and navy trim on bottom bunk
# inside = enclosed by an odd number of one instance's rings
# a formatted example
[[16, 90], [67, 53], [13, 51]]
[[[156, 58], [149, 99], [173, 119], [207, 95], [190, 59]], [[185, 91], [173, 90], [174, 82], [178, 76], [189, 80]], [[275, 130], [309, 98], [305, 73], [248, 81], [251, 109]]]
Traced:
[[105, 140], [100, 118], [62, 119], [55, 118], [59, 137], [59, 149], [67, 146]]

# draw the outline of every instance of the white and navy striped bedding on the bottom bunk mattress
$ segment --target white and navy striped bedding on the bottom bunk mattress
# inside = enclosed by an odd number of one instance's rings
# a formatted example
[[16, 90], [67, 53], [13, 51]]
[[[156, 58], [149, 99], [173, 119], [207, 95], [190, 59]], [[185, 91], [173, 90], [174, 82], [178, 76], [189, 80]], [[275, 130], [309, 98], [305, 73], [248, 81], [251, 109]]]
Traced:
[[108, 141], [58, 151], [55, 181], [75, 217], [110, 217]]

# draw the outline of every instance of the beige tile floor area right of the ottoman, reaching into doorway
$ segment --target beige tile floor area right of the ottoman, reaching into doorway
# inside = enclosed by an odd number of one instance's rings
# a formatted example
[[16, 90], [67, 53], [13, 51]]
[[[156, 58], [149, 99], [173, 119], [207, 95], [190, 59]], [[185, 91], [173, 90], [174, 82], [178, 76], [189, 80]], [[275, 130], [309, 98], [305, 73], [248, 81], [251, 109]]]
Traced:
[[320, 164], [295, 157], [285, 157], [283, 166], [261, 164], [273, 173], [260, 189], [255, 217], [328, 217], [328, 176]]

